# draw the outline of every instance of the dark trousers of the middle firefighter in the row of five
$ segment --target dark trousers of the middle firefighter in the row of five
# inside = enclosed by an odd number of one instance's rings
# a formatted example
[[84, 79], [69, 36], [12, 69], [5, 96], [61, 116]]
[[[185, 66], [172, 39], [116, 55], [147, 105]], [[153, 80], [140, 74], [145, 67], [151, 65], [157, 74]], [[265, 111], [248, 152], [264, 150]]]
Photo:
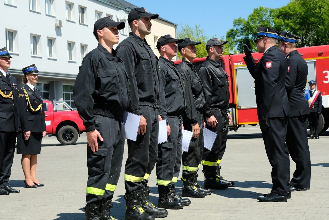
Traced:
[[182, 162], [182, 120], [180, 117], [168, 116], [170, 135], [168, 141], [159, 144], [157, 158], [158, 185], [175, 184]]

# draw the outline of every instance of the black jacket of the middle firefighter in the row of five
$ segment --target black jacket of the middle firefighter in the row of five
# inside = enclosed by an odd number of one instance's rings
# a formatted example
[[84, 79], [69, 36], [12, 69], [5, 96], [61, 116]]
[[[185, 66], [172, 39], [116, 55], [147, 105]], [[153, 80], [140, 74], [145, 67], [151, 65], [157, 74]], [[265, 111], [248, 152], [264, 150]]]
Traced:
[[[159, 60], [159, 75], [165, 96], [165, 101], [161, 101], [161, 110], [166, 110], [166, 115], [179, 116], [185, 107], [183, 78], [175, 68], [174, 63], [162, 56], [160, 56]], [[161, 115], [163, 114], [165, 113], [161, 112]], [[163, 119], [166, 119], [166, 116], [164, 116]]]

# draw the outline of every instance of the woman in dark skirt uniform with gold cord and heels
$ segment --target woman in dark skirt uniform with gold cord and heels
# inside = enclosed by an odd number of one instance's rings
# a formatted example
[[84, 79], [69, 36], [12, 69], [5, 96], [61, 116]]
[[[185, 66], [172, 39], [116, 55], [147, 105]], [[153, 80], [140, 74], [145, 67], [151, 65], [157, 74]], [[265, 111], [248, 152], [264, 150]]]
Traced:
[[25, 86], [18, 90], [19, 120], [21, 129], [17, 136], [17, 153], [22, 154], [22, 168], [26, 188], [44, 186], [37, 179], [37, 155], [41, 139], [46, 135], [46, 123], [41, 92], [36, 89], [38, 69], [35, 64], [22, 69]]

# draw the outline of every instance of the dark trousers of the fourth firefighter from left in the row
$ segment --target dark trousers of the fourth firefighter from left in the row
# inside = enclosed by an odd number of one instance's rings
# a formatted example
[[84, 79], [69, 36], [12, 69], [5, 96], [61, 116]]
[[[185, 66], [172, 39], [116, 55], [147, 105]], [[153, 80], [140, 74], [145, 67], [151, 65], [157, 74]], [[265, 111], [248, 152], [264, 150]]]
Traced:
[[[200, 127], [200, 135], [197, 138], [191, 139], [189, 152], [183, 152], [182, 155], [182, 164], [183, 164], [183, 173], [182, 176], [194, 175], [200, 168], [200, 163], [202, 160], [203, 154], [203, 114], [197, 111], [197, 121]], [[183, 125], [184, 129], [192, 131], [192, 126], [188, 119], [183, 116]]]

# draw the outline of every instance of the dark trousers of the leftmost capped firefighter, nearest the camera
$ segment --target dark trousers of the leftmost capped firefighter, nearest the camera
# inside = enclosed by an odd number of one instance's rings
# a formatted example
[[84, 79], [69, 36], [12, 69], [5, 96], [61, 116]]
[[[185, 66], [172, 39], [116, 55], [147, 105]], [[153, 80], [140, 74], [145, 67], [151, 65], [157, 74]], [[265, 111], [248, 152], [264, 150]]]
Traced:
[[98, 139], [98, 151], [95, 153], [87, 145], [87, 205], [112, 200], [120, 176], [126, 138], [121, 119], [96, 115], [95, 127], [104, 141]]

